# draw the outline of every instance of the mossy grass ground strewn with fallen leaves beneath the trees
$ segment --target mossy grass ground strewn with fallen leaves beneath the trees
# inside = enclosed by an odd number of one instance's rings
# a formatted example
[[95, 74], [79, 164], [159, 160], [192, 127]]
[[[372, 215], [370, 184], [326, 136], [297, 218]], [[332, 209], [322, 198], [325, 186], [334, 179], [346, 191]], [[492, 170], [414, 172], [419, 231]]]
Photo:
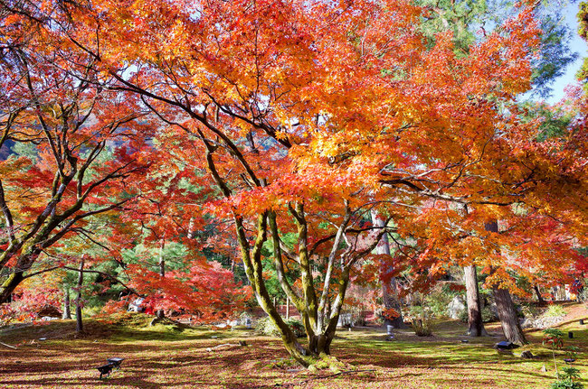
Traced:
[[[430, 338], [401, 330], [386, 341], [384, 329], [341, 330], [333, 355], [356, 368], [333, 375], [309, 374], [293, 364], [277, 338], [251, 330], [182, 329], [169, 323], [149, 327], [150, 318], [120, 315], [85, 320], [88, 334], [75, 337], [75, 323], [58, 320], [40, 326], [0, 331], [2, 388], [547, 388], [554, 381], [550, 351], [541, 346], [542, 333], [528, 332], [532, 345], [504, 356], [491, 346], [498, 338], [461, 343], [465, 327], [438, 322]], [[489, 326], [496, 333], [498, 327]], [[560, 327], [574, 331], [565, 345], [580, 348], [574, 364], [588, 378], [588, 326], [577, 321]], [[47, 338], [39, 341], [38, 338]], [[216, 338], [213, 338], [216, 337]], [[247, 347], [210, 347], [246, 340]], [[517, 357], [528, 349], [539, 359]], [[125, 357], [122, 369], [99, 380], [95, 367], [107, 357]], [[563, 353], [558, 357], [561, 361]], [[542, 367], [546, 371], [542, 371]]]

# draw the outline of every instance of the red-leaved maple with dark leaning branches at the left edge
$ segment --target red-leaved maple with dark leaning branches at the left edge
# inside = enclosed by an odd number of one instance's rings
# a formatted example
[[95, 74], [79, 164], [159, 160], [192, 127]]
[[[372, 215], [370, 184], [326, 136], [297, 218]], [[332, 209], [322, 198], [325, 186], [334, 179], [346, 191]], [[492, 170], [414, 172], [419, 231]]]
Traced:
[[89, 219], [128, 202], [128, 180], [147, 167], [134, 156], [149, 134], [144, 113], [97, 86], [97, 60], [66, 38], [60, 6], [2, 5], [0, 147], [28, 153], [0, 162], [1, 302], [63, 238], [91, 241]]

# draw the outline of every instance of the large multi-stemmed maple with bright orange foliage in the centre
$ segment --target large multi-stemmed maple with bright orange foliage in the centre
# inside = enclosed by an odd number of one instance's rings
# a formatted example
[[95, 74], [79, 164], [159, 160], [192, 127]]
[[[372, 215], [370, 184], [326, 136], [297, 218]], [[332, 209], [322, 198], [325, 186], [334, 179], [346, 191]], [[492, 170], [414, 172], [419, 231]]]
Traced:
[[[410, 268], [413, 287], [424, 290], [449, 264], [479, 264], [489, 286], [516, 291], [509, 272], [564, 275], [572, 240], [586, 236], [585, 211], [574, 206], [586, 188], [583, 127], [536, 142], [540, 120], [516, 104], [539, 42], [533, 6], [517, 5], [463, 56], [451, 32], [428, 40], [422, 7], [402, 0], [59, 5], [71, 25], [61, 44], [95, 69], [87, 88], [124, 96], [115, 107], [132, 104], [135, 116], [150, 112], [156, 130], [129, 122], [140, 130], [133, 150], [151, 155], [140, 142], [154, 132], [169, 157], [158, 159], [162, 174], [175, 171], [126, 217], [156, 245], [184, 239], [211, 216], [232, 226], [219, 251], [239, 247], [257, 301], [305, 366], [330, 352], [361, 266]], [[81, 126], [94, 136], [90, 128]], [[117, 157], [110, 163], [129, 158]], [[207, 190], [176, 191], [180, 179]], [[115, 188], [101, 194], [114, 197]], [[381, 224], [367, 222], [372, 211]], [[488, 231], [495, 220], [500, 228]], [[394, 256], [374, 255], [391, 231]], [[268, 259], [302, 316], [307, 347], [272, 302]], [[213, 305], [186, 288], [203, 289], [203, 269], [216, 265], [167, 277], [163, 260], [143, 280], [151, 291], [168, 290], [178, 307]]]

